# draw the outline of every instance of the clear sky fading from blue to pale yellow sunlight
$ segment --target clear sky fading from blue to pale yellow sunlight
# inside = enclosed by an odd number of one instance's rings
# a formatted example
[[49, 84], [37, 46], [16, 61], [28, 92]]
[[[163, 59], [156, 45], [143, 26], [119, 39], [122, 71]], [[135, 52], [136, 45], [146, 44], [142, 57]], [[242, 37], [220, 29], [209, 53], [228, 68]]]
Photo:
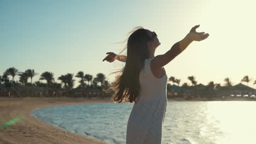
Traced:
[[[165, 65], [168, 77], [190, 83], [233, 85], [243, 76], [256, 88], [255, 1], [0, 1], [0, 75], [10, 67], [34, 69], [33, 82], [44, 71], [57, 77], [78, 71], [96, 77], [103, 73], [109, 82], [124, 62], [102, 62], [107, 52], [119, 53], [136, 26], [158, 34], [162, 55], [182, 40], [192, 27], [209, 33]], [[126, 51], [123, 52], [126, 54]], [[11, 79], [11, 76], [9, 76]], [[75, 87], [79, 79], [75, 79]], [[19, 81], [19, 76], [15, 76]], [[30, 79], [28, 79], [30, 82]], [[42, 82], [45, 82], [43, 80]], [[247, 85], [246, 83], [243, 83]]]

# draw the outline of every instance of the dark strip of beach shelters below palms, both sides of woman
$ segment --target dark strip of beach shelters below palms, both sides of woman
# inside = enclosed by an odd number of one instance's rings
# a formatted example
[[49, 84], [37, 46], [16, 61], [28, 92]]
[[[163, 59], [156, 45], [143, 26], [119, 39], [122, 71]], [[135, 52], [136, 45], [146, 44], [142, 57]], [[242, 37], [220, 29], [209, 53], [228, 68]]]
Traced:
[[[222, 87], [220, 89], [209, 88], [201, 83], [196, 86], [179, 87], [177, 85], [167, 86], [168, 99], [205, 99], [214, 98], [255, 98], [256, 89], [238, 83], [231, 87]], [[86, 97], [86, 98], [110, 98], [110, 93], [104, 92], [101, 88], [49, 88], [35, 86], [15, 86], [4, 87], [0, 85], [0, 97]]]

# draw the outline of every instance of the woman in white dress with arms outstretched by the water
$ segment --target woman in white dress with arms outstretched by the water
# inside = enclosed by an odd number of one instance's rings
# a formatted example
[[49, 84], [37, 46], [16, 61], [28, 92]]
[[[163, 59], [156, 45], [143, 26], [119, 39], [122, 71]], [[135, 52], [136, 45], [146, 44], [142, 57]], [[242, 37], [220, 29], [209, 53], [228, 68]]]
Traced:
[[[110, 87], [115, 103], [128, 100], [135, 103], [127, 123], [126, 143], [161, 143], [162, 123], [167, 106], [167, 75], [164, 66], [184, 51], [192, 41], [206, 39], [209, 34], [198, 33], [196, 25], [163, 55], [155, 56], [160, 45], [158, 35], [140, 27], [127, 40], [127, 57], [107, 52], [103, 61], [125, 62], [121, 74]], [[109, 88], [109, 89], [110, 89]], [[109, 91], [109, 89], [107, 91]]]

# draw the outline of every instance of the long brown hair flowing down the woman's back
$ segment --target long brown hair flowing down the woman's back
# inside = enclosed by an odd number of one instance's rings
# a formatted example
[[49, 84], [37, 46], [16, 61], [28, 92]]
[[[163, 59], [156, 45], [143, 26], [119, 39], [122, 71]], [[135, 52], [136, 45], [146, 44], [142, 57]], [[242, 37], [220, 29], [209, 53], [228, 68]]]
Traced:
[[[127, 48], [127, 57], [125, 66], [114, 73], [120, 73], [115, 77], [115, 81], [106, 91], [114, 90], [112, 99], [114, 103], [121, 103], [124, 100], [129, 103], [136, 103], [138, 99], [139, 90], [141, 89], [139, 83], [139, 73], [144, 67], [145, 59], [149, 58], [149, 50], [147, 42], [151, 40], [149, 31], [143, 27], [136, 27], [133, 31], [125, 46]], [[125, 50], [124, 49], [124, 50]], [[123, 51], [124, 51], [123, 50]], [[112, 73], [112, 74], [114, 74]]]

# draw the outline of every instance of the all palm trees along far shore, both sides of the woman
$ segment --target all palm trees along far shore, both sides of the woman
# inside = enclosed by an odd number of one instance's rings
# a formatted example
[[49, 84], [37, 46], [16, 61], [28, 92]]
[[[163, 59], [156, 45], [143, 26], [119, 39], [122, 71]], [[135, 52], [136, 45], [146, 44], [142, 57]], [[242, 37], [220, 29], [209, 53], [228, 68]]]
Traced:
[[[12, 76], [12, 81], [9, 80], [8, 76]], [[74, 87], [74, 74], [68, 73], [65, 75], [61, 75], [57, 77], [57, 80], [60, 80], [61, 83], [55, 82], [54, 79], [54, 73], [51, 73], [50, 71], [45, 71], [42, 73], [39, 77], [38, 81], [35, 81], [32, 83], [32, 79], [34, 76], [38, 75], [38, 73], [35, 73], [34, 69], [27, 69], [24, 72], [19, 71], [18, 69], [11, 67], [4, 71], [3, 75], [0, 75], [0, 84], [4, 83], [5, 87], [11, 87], [13, 85], [16, 85], [17, 82], [14, 81], [14, 77], [18, 75], [19, 82], [21, 85], [24, 86], [38, 86], [38, 87], [53, 87], [53, 88], [73, 88]], [[75, 77], [78, 77], [80, 80], [79, 85], [77, 88], [108, 88], [110, 86], [110, 83], [106, 80], [106, 76], [102, 73], [98, 73], [96, 77], [93, 77], [90, 74], [84, 74], [83, 71], [79, 71]], [[195, 76], [188, 76], [188, 80], [191, 82], [191, 85], [189, 83], [184, 82], [181, 86], [182, 88], [189, 88], [189, 87], [195, 87], [197, 85], [197, 81], [195, 80]], [[28, 79], [31, 80], [31, 82], [28, 82]], [[46, 83], [40, 82], [40, 80], [46, 80]], [[88, 82], [85, 83], [85, 81]], [[181, 79], [176, 79], [174, 76], [171, 76], [168, 81], [171, 81], [173, 85], [177, 83], [177, 85], [180, 85]], [[232, 82], [230, 81], [229, 77], [226, 77], [224, 79], [224, 86], [221, 86], [220, 83], [214, 83], [213, 81], [208, 82], [206, 85], [207, 88], [216, 88], [216, 89], [222, 89], [222, 88], [229, 88], [232, 87]], [[253, 82], [251, 78], [248, 77], [248, 75], [244, 76], [241, 79], [241, 83], [246, 82], [247, 86], [249, 82]], [[98, 86], [98, 83], [100, 83], [100, 86]], [[256, 80], [253, 82], [253, 85], [256, 84]], [[63, 85], [63, 86], [62, 86]], [[168, 85], [170, 86], [170, 85]]]

